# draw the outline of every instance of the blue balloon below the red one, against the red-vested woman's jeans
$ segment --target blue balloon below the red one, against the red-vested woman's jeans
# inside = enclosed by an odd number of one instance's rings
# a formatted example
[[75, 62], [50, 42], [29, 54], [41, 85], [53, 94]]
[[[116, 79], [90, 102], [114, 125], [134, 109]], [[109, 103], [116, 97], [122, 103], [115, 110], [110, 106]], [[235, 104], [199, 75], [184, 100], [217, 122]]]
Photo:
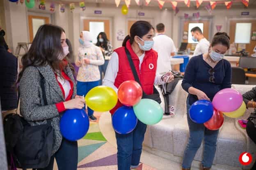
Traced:
[[119, 107], [112, 116], [113, 128], [119, 134], [128, 134], [132, 132], [135, 129], [137, 122], [138, 119], [135, 116], [133, 107]]

